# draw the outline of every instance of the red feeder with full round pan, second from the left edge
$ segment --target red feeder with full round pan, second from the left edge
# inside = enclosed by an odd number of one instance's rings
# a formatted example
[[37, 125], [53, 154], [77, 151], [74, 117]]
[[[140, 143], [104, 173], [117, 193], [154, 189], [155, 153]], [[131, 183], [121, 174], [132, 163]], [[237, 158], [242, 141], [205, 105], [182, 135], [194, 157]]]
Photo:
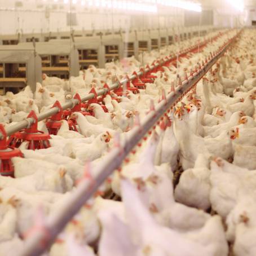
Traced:
[[10, 136], [8, 143], [11, 147], [18, 148], [21, 143], [27, 141], [28, 149], [42, 149], [51, 147], [49, 139], [51, 139], [49, 134], [43, 133], [43, 131], [37, 130], [37, 115], [34, 111], [31, 111], [28, 118], [34, 118], [32, 125], [22, 131], [18, 131], [14, 135]]

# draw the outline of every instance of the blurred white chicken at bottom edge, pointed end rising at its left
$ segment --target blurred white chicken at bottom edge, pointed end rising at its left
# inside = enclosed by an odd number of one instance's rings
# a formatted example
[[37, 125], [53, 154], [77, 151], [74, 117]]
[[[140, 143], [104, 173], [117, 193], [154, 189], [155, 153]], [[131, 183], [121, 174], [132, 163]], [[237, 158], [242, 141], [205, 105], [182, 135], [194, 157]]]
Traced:
[[[158, 225], [128, 180], [122, 180], [122, 199], [125, 204], [127, 224], [134, 237], [132, 241], [136, 241], [139, 250], [143, 251], [147, 248], [153, 255], [214, 255], [211, 253], [213, 249], [210, 249], [210, 245], [202, 246], [173, 229]], [[134, 205], [136, 207], [133, 207]], [[170, 246], [170, 240], [175, 242], [175, 246]]]

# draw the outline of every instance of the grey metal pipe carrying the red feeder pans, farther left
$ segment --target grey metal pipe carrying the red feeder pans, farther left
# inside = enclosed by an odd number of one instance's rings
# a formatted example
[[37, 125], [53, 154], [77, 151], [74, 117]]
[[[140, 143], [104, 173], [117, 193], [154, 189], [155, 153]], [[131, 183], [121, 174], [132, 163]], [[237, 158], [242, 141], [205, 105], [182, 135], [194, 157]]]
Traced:
[[[219, 37], [219, 35], [217, 35], [215, 37], [212, 37], [212, 38], [209, 38], [208, 40], [206, 40], [206, 42], [202, 42], [200, 44], [200, 47], [206, 45], [207, 43], [213, 41], [214, 39], [216, 39], [218, 37]], [[192, 52], [192, 51], [196, 50], [197, 47], [198, 47], [198, 45], [189, 47], [189, 48], [183, 50], [182, 52], [180, 52], [179, 55], [182, 56], [182, 55], [188, 54], [189, 52]], [[172, 60], [175, 61], [176, 60], [176, 56], [174, 56], [174, 55], [169, 56], [164, 61], [162, 60], [161, 63], [159, 62], [159, 63], [153, 65], [153, 67], [145, 68], [144, 72], [145, 73], [150, 72], [154, 68], [157, 68], [160, 65], [163, 65], [163, 64], [167, 63], [168, 61], [172, 61]], [[139, 76], [143, 75], [143, 72], [139, 71], [137, 74], [138, 74], [138, 77], [139, 77]], [[117, 82], [117, 83], [114, 83], [112, 86], [109, 86], [109, 90], [108, 89], [101, 89], [101, 90], [96, 91], [96, 94], [98, 96], [104, 95], [108, 91], [118, 89], [121, 85], [124, 85], [127, 82], [129, 82], [129, 81], [133, 81], [135, 78], [136, 78], [135, 75], [129, 77], [129, 80], [127, 78], [125, 78], [124, 80], [122, 80], [120, 82]], [[85, 97], [83, 97], [81, 99], [81, 101], [85, 102], [87, 100], [93, 99], [94, 97], [95, 97], [95, 95], [93, 93], [90, 93], [90, 94], [86, 95]], [[62, 109], [65, 110], [65, 109], [73, 108], [76, 104], [78, 104], [78, 100], [77, 99], [73, 99], [73, 100], [69, 101], [68, 103], [63, 104], [62, 105]], [[48, 110], [45, 113], [39, 114], [38, 117], [37, 117], [38, 118], [38, 122], [42, 121], [42, 120], [45, 120], [46, 118], [51, 117], [52, 115], [58, 113], [59, 111], [60, 111], [59, 108], [54, 107], [54, 108], [51, 108], [50, 110]], [[20, 130], [25, 129], [25, 128], [29, 128], [35, 121], [36, 120], [34, 120], [34, 118], [26, 118], [25, 120], [17, 123], [16, 125], [12, 125], [10, 127], [7, 127], [6, 128], [6, 134], [7, 134], [7, 136], [10, 136], [10, 135], [16, 133], [17, 131], [20, 131]], [[0, 133], [0, 139], [3, 139], [3, 134], [1, 134], [1, 133]]]

